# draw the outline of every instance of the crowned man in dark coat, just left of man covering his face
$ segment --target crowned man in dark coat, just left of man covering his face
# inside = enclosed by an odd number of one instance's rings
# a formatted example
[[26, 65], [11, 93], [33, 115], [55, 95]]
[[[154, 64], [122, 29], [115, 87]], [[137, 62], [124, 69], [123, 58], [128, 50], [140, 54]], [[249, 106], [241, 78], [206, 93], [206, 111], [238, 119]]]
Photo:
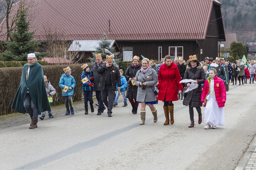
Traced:
[[96, 94], [96, 99], [98, 101], [98, 113], [97, 115], [101, 115], [101, 113], [103, 113], [103, 111], [106, 109], [102, 100], [101, 100], [101, 89], [99, 88], [99, 84], [100, 84], [100, 74], [98, 74], [97, 69], [99, 68], [100, 65], [104, 65], [104, 63], [102, 62], [102, 58], [101, 58], [101, 54], [96, 54], [95, 55], [96, 58], [96, 62], [93, 63], [91, 65], [91, 73], [93, 73], [93, 77], [94, 77], [94, 90], [95, 90], [95, 94]]

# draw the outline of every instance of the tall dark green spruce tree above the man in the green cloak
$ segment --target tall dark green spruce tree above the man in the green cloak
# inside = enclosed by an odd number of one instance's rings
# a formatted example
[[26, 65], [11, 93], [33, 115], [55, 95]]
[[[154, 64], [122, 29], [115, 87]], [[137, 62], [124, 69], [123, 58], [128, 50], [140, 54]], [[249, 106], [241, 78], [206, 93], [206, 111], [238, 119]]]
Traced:
[[29, 32], [27, 11], [20, 7], [18, 19], [15, 22], [15, 31], [11, 32], [11, 42], [6, 41], [6, 50], [1, 54], [5, 61], [26, 61], [27, 54], [37, 51], [39, 42], [32, 41], [35, 31]]

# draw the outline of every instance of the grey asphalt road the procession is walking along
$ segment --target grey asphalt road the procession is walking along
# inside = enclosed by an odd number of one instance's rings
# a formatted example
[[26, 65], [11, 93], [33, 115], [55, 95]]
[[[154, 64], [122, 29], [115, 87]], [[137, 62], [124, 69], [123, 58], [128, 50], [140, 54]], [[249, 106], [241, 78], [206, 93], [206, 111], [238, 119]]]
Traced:
[[[230, 85], [225, 126], [188, 128], [188, 107], [174, 102], [173, 125], [164, 126], [146, 108], [146, 122], [130, 104], [113, 108], [113, 117], [84, 112], [0, 130], [0, 169], [218, 169], [236, 168], [256, 134], [256, 84]], [[196, 113], [196, 109], [194, 109]], [[202, 112], [204, 108], [202, 107]], [[198, 121], [197, 113], [195, 122]]]

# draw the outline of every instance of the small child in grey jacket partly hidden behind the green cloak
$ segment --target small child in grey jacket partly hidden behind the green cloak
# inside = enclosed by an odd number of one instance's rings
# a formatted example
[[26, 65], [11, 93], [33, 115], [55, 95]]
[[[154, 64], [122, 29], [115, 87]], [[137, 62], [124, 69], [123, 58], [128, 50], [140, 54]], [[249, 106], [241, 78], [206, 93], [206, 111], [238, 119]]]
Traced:
[[[46, 93], [47, 93], [48, 101], [49, 101], [50, 105], [52, 105], [52, 103], [53, 103], [53, 95], [56, 93], [56, 90], [51, 85], [50, 81], [47, 80], [46, 76], [44, 76], [44, 85], [45, 85], [45, 90], [46, 90]], [[44, 111], [42, 113], [42, 115], [39, 117], [39, 119], [44, 120], [45, 113], [46, 113], [46, 111]], [[48, 119], [54, 118], [51, 111], [48, 111], [48, 116], [49, 116]]]

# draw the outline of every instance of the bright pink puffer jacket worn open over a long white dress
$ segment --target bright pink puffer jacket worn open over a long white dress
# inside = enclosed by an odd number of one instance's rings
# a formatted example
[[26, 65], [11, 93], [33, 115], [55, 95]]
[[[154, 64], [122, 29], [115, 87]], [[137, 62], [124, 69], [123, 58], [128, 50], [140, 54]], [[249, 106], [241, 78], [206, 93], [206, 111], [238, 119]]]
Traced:
[[[204, 103], [203, 106], [205, 107], [206, 105], [206, 97], [209, 94], [210, 90], [210, 80], [211, 78], [208, 77], [204, 81], [204, 86], [203, 86], [203, 91], [201, 95], [201, 102]], [[217, 76], [214, 77], [214, 92], [215, 92], [215, 98], [217, 101], [217, 104], [220, 107], [224, 107], [226, 103], [226, 89], [225, 89], [225, 84], [221, 78], [218, 78]]]

